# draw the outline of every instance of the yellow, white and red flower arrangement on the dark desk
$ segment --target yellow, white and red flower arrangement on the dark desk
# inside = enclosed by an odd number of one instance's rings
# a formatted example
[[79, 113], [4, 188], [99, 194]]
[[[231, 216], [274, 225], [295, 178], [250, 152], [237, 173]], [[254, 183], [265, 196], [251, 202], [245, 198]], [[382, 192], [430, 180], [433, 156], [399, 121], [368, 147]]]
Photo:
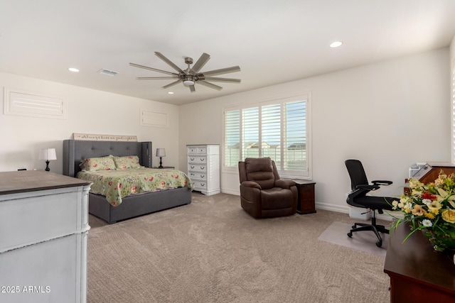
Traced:
[[404, 241], [423, 231], [435, 250], [455, 248], [455, 174], [444, 175], [441, 171], [429, 184], [411, 177], [410, 194], [404, 194], [400, 202], [392, 202], [392, 208], [404, 214], [395, 228], [404, 222], [410, 224], [411, 233]]

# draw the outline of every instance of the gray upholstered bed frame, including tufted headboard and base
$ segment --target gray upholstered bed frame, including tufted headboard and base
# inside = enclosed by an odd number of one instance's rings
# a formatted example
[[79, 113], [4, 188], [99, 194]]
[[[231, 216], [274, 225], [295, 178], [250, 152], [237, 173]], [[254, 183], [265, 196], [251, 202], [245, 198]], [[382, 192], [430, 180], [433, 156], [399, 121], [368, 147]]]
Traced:
[[[106, 155], [137, 155], [141, 165], [151, 167], [151, 142], [65, 140], [63, 175], [75, 177], [80, 171], [81, 160]], [[188, 187], [131, 195], [122, 198], [119, 206], [109, 204], [105, 196], [89, 194], [89, 213], [109, 224], [185, 204], [191, 204], [191, 189]]]

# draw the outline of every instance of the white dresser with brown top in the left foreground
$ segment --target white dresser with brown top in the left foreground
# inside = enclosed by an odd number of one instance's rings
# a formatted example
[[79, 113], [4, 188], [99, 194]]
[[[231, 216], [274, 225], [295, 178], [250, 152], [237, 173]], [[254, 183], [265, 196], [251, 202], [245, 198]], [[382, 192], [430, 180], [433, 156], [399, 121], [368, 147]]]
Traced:
[[90, 182], [0, 172], [0, 302], [86, 302]]

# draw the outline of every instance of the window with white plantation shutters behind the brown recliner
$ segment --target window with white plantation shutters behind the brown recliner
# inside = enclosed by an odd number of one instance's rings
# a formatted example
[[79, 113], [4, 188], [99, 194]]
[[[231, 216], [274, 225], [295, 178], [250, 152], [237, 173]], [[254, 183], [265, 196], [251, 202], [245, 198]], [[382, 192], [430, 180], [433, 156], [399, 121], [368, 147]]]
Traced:
[[280, 176], [311, 178], [309, 94], [224, 110], [223, 170], [270, 157]]

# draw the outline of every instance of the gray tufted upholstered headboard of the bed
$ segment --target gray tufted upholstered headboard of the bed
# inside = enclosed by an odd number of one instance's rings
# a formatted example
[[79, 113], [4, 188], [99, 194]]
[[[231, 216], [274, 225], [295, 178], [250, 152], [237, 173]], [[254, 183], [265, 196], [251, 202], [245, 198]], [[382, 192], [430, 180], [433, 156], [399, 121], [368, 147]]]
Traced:
[[139, 163], [151, 167], [151, 142], [123, 141], [63, 141], [63, 175], [75, 177], [80, 171], [80, 161], [106, 155], [139, 156]]

